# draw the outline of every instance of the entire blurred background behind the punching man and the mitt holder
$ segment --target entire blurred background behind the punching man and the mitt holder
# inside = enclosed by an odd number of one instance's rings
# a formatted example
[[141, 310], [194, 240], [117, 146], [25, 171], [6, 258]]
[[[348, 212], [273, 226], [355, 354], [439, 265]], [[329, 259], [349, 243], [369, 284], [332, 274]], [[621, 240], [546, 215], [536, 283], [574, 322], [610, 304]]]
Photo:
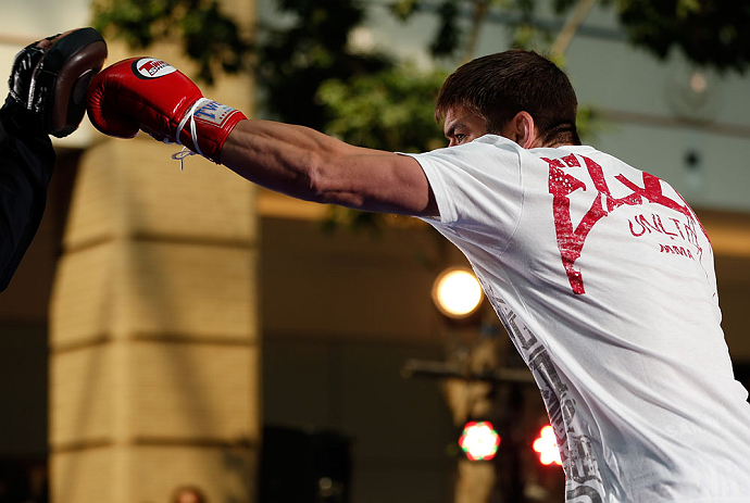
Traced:
[[[549, 53], [584, 142], [697, 211], [750, 387], [749, 21], [717, 0], [27, 0], [0, 63], [96, 26], [109, 63], [162, 58], [248, 116], [423, 151], [446, 143], [432, 108], [462, 61]], [[177, 147], [87, 120], [54, 146], [0, 294], [0, 503], [563, 501], [493, 314], [437, 306], [465, 263], [427, 226], [180, 171]]]

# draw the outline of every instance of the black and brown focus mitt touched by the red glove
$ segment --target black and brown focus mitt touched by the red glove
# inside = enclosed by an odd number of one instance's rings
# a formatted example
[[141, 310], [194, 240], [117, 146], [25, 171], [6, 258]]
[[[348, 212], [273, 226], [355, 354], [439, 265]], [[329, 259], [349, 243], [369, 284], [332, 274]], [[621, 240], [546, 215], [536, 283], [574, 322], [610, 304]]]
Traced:
[[86, 90], [107, 59], [107, 42], [93, 28], [49, 37], [18, 52], [9, 79], [10, 96], [35, 114], [46, 133], [62, 138], [86, 113]]

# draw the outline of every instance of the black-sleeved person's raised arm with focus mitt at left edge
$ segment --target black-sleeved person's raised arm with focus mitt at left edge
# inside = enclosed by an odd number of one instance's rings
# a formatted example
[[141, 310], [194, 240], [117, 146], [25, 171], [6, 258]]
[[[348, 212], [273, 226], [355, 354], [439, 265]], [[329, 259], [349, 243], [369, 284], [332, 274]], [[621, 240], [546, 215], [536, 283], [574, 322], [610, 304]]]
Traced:
[[8, 287], [39, 228], [54, 150], [48, 135], [73, 133], [86, 112], [86, 89], [107, 58], [93, 28], [30, 43], [13, 61], [0, 110], [0, 291]]

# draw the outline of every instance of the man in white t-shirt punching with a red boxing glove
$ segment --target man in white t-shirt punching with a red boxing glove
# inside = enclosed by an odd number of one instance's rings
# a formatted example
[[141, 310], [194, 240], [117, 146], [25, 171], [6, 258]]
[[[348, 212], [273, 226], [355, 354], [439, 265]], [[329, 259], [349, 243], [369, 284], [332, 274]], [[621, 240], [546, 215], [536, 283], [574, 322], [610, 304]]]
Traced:
[[163, 61], [97, 76], [101, 131], [143, 130], [296, 198], [424, 218], [466, 255], [540, 388], [566, 501], [750, 502], [750, 404], [713, 252], [665, 181], [582, 146], [575, 92], [534, 52], [443, 84], [449, 148], [404, 155], [247, 120]]

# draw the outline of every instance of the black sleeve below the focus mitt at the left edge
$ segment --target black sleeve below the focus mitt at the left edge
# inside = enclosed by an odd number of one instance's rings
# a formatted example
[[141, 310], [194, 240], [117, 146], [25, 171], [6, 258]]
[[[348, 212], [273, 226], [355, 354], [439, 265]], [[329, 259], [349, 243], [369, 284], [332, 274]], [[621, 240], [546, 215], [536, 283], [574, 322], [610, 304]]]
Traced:
[[54, 150], [47, 134], [7, 100], [0, 109], [0, 291], [39, 228], [53, 168]]

